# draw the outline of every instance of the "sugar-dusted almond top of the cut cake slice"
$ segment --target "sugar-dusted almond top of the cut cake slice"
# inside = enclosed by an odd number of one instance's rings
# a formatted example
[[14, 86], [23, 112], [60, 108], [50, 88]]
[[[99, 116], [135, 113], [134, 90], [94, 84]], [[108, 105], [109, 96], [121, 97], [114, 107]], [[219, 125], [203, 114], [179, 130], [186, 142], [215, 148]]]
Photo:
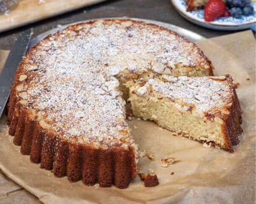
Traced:
[[189, 105], [196, 105], [203, 112], [220, 111], [233, 97], [233, 84], [229, 77], [162, 76], [162, 80], [149, 79], [145, 86], [148, 85], [172, 100], [181, 99]]

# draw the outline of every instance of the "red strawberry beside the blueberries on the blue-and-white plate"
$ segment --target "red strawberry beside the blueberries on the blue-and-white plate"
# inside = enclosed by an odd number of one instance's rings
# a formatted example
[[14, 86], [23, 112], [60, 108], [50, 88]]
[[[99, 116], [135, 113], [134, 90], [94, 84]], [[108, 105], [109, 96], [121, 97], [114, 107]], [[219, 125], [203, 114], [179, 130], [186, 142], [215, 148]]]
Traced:
[[225, 3], [221, 0], [209, 0], [204, 7], [204, 20], [207, 22], [226, 15], [229, 14]]

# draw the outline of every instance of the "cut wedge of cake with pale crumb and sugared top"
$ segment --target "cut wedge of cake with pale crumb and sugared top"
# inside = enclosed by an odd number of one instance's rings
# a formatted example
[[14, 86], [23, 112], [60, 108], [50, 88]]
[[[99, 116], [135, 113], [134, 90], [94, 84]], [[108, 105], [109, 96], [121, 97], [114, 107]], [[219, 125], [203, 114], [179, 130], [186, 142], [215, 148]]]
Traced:
[[141, 78], [127, 82], [133, 114], [180, 135], [233, 152], [242, 132], [232, 78]]

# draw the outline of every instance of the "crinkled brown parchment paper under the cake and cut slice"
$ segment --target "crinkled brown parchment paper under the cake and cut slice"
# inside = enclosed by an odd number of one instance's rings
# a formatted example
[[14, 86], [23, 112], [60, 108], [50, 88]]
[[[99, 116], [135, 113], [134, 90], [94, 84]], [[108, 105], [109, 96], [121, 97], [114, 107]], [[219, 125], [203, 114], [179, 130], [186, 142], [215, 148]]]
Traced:
[[[137, 177], [124, 190], [101, 188], [98, 184], [87, 187], [81, 181], [70, 183], [66, 177], [55, 178], [39, 164], [31, 163], [29, 156], [22, 156], [20, 147], [8, 135], [4, 116], [0, 119], [0, 169], [47, 204], [255, 203], [255, 39], [251, 31], [244, 31], [197, 45], [212, 60], [215, 75], [231, 74], [240, 83], [237, 94], [244, 133], [235, 153], [206, 148], [199, 142], [173, 136], [153, 122], [134, 119], [129, 125], [140, 150], [155, 156], [154, 161], [140, 159], [139, 167], [144, 171], [154, 169], [160, 184], [146, 188]], [[160, 159], [165, 156], [180, 161], [160, 167]]]

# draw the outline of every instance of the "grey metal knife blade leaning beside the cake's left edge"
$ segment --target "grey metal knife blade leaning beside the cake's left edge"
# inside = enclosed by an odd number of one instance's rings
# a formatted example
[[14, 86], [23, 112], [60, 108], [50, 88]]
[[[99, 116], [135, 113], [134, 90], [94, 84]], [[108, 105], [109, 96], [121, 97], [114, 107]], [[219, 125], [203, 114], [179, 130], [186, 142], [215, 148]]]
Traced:
[[20, 34], [6, 59], [3, 70], [0, 73], [0, 117], [3, 114], [4, 107], [6, 106], [9, 98], [12, 82], [18, 65], [28, 49], [31, 34], [32, 28]]

